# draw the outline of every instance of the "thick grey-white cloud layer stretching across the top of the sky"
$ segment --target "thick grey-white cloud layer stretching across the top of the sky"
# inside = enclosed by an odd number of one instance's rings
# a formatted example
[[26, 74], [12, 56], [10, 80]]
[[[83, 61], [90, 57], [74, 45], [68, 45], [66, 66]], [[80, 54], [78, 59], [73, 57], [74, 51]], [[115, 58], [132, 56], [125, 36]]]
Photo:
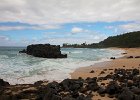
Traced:
[[1, 0], [0, 22], [140, 21], [140, 0]]

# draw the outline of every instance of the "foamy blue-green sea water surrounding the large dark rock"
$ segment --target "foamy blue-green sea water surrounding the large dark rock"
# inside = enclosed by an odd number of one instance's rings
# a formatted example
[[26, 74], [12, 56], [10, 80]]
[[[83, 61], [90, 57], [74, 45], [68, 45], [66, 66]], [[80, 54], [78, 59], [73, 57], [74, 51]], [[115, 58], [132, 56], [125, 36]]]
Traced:
[[68, 58], [47, 59], [19, 54], [23, 48], [0, 47], [0, 78], [10, 84], [27, 84], [39, 80], [61, 81], [70, 78], [76, 68], [93, 65], [109, 60], [110, 57], [120, 57], [123, 50], [62, 48]]

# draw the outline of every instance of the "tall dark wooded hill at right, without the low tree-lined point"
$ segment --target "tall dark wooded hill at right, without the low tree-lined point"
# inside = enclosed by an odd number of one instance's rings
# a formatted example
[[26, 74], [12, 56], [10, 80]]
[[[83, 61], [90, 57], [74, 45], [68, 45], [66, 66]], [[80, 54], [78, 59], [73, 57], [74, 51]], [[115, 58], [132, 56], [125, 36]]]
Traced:
[[101, 47], [140, 47], [140, 31], [111, 36], [99, 42]]

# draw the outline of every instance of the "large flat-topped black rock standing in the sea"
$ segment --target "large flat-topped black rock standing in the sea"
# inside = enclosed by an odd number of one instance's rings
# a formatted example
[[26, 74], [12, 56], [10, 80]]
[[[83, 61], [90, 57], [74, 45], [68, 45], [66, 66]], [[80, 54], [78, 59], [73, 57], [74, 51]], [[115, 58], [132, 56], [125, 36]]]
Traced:
[[67, 58], [67, 54], [61, 54], [60, 45], [34, 44], [27, 46], [27, 49], [19, 51], [34, 57], [42, 58]]

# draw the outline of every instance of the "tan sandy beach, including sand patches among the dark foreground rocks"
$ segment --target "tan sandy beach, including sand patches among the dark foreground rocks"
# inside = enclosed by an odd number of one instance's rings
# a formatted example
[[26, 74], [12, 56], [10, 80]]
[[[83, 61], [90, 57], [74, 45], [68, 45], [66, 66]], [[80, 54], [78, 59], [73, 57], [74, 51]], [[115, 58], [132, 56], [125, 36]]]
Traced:
[[[115, 48], [116, 49], [116, 48]], [[120, 49], [120, 48], [118, 48]], [[89, 67], [83, 67], [75, 70], [71, 73], [72, 79], [82, 77], [105, 77], [107, 74], [111, 74], [115, 69], [134, 69], [140, 68], [140, 48], [124, 48], [125, 52], [122, 54], [123, 57], [117, 58], [111, 61], [96, 63]], [[109, 81], [102, 81], [102, 83], [108, 84]], [[100, 82], [98, 82], [100, 84]], [[101, 97], [98, 94], [94, 94], [94, 100], [112, 100], [107, 96]]]

